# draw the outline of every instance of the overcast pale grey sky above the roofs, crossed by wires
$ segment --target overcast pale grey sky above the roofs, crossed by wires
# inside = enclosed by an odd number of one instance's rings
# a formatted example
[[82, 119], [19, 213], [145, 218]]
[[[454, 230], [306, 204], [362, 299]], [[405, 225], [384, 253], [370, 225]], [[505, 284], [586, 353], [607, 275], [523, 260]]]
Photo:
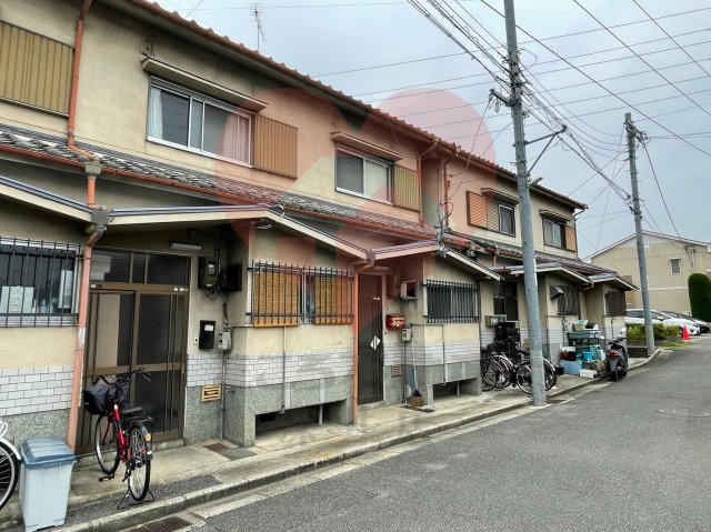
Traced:
[[[502, 0], [485, 1], [503, 12]], [[683, 238], [711, 241], [711, 4], [708, 0], [578, 1], [589, 13], [575, 0], [515, 2], [528, 87], [564, 119], [595, 164], [628, 193], [623, 121], [624, 113], [631, 112], [650, 138], [651, 167], [644, 149], [638, 150], [645, 229], [674, 234], [663, 194]], [[501, 64], [477, 50], [441, 16], [438, 20], [475, 59], [407, 1], [264, 0], [259, 9], [264, 40], [259, 43], [253, 2], [160, 3], [514, 170], [510, 112], [503, 107], [497, 112], [487, 103], [489, 90], [498, 84], [484, 66], [503, 76]], [[420, 3], [434, 14], [427, 0]], [[472, 37], [487, 49], [493, 47], [491, 54], [500, 61], [505, 53], [503, 18], [481, 0], [447, 3]], [[539, 122], [543, 118], [544, 111], [532, 109], [527, 139], [550, 132]], [[563, 138], [573, 145], [571, 137]], [[529, 164], [543, 144], [529, 147]], [[624, 201], [561, 142], [543, 155], [533, 175], [544, 178], [541, 184], [590, 205], [578, 222], [581, 257], [634, 231]]]

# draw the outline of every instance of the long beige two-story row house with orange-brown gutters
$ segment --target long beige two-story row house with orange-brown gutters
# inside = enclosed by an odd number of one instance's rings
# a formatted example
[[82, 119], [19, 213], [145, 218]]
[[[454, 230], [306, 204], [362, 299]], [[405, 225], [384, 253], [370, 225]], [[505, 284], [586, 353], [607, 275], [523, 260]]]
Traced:
[[[18, 440], [88, 450], [82, 388], [139, 367], [157, 441], [480, 392], [481, 317], [524, 309], [510, 172], [146, 0], [9, 0], [0, 42]], [[582, 299], [582, 205], [533, 190], [547, 283]]]

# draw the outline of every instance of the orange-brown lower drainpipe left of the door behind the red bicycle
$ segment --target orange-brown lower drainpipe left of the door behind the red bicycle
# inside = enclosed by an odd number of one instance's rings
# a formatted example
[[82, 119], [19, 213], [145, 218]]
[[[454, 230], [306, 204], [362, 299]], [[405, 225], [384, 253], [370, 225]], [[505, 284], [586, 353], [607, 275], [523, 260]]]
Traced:
[[91, 235], [84, 244], [84, 257], [81, 263], [81, 282], [79, 284], [79, 315], [77, 319], [77, 348], [74, 350], [74, 374], [71, 390], [71, 405], [69, 409], [69, 426], [67, 429], [67, 444], [74, 451], [77, 445], [77, 426], [79, 424], [79, 395], [84, 374], [84, 355], [87, 350], [87, 313], [89, 308], [89, 273], [93, 244], [103, 235], [109, 225], [109, 213], [101, 208], [91, 213]]

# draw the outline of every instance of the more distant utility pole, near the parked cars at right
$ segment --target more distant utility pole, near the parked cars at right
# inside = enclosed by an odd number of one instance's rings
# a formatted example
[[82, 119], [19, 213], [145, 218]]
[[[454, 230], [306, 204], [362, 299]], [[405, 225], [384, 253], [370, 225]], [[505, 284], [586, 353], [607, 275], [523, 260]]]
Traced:
[[630, 155], [630, 178], [632, 179], [632, 212], [634, 213], [634, 230], [637, 232], [637, 259], [640, 263], [640, 281], [642, 284], [642, 308], [644, 309], [644, 337], [647, 339], [647, 355], [654, 354], [654, 331], [652, 329], [652, 310], [649, 304], [649, 281], [647, 279], [647, 257], [644, 254], [644, 237], [642, 235], [642, 209], [640, 208], [640, 191], [637, 185], [637, 141], [644, 142], [647, 134], [638, 130], [632, 122], [632, 114], [624, 113], [624, 129], [627, 130], [627, 149]]

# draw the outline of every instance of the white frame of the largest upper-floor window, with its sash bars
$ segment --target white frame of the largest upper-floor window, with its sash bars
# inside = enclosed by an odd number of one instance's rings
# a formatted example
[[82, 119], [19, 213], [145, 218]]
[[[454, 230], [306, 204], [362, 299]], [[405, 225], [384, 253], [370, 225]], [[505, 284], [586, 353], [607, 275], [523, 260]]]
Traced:
[[[172, 94], [176, 94], [178, 97], [181, 98], [187, 98], [190, 100], [190, 107], [188, 109], [188, 144], [183, 145], [183, 144], [179, 144], [177, 142], [171, 142], [169, 140], [164, 140], [161, 139], [159, 137], [152, 137], [150, 134], [151, 132], [151, 109], [153, 106], [153, 102], [151, 100], [152, 96], [151, 96], [151, 89], [157, 88], [161, 91], [164, 92], [170, 92]], [[193, 100], [198, 100], [201, 101], [202, 103], [207, 103], [209, 106], [212, 106], [214, 108], [221, 109], [223, 111], [233, 113], [233, 114], [238, 114], [242, 118], [246, 118], [248, 120], [248, 135], [247, 135], [247, 153], [248, 153], [248, 161], [240, 161], [239, 159], [232, 159], [229, 157], [224, 157], [224, 155], [220, 155], [219, 153], [212, 153], [211, 151], [204, 151], [198, 148], [193, 148], [190, 145], [190, 133], [192, 131], [192, 101]], [[149, 84], [149, 98], [148, 98], [148, 117], [146, 120], [146, 138], [151, 141], [151, 142], [156, 142], [157, 144], [163, 144], [163, 145], [169, 145], [171, 148], [177, 148], [179, 150], [182, 151], [189, 151], [191, 153], [197, 153], [199, 155], [204, 155], [204, 157], [209, 157], [211, 159], [218, 159], [221, 161], [227, 161], [227, 162], [233, 162], [236, 164], [240, 164], [240, 165], [244, 165], [244, 167], [249, 167], [252, 168], [252, 137], [253, 137], [253, 129], [254, 129], [254, 120], [253, 120], [253, 113], [251, 112], [247, 112], [243, 109], [238, 109], [233, 106], [230, 106], [229, 103], [224, 103], [220, 100], [216, 100], [214, 98], [210, 98], [209, 96], [206, 94], [201, 94], [200, 92], [196, 92], [192, 91], [190, 89], [186, 89], [183, 87], [177, 86], [174, 83], [170, 83], [168, 81], [158, 79], [158, 78], [151, 78], [151, 82]], [[200, 128], [200, 134], [204, 138], [204, 108], [203, 108], [203, 112], [202, 112], [202, 127]], [[202, 139], [201, 139], [202, 140]], [[202, 143], [202, 142], [201, 142]]]

